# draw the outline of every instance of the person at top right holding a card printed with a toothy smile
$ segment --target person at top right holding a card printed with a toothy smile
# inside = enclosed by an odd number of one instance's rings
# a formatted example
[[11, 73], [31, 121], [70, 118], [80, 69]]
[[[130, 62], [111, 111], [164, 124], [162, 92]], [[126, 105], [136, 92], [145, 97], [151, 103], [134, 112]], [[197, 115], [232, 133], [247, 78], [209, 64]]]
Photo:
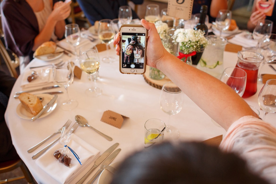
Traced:
[[[265, 8], [264, 8], [265, 7]], [[273, 22], [272, 33], [276, 33], [276, 6], [275, 0], [255, 0], [252, 14], [247, 22], [247, 29], [253, 32], [259, 20], [271, 20]]]

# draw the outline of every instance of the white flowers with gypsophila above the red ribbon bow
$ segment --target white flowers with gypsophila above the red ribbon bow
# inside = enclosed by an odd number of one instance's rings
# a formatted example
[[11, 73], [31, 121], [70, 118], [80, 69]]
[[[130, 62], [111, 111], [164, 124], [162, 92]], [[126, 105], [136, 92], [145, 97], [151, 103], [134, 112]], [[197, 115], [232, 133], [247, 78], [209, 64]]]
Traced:
[[184, 54], [189, 54], [193, 51], [200, 52], [208, 43], [201, 30], [180, 28], [174, 32], [172, 38], [173, 42], [179, 43], [179, 50]]

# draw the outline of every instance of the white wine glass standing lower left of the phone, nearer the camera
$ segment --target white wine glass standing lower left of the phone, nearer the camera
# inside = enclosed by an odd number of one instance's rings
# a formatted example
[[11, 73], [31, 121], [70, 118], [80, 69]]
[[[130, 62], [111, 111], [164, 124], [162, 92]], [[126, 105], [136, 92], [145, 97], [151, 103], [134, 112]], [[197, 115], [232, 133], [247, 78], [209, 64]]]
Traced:
[[[83, 46], [79, 51], [79, 65], [82, 71], [91, 76], [92, 87], [85, 91], [89, 97], [97, 97], [102, 94], [102, 90], [97, 87], [94, 75], [100, 68], [100, 57], [96, 46]], [[94, 84], [94, 85], [93, 85]]]

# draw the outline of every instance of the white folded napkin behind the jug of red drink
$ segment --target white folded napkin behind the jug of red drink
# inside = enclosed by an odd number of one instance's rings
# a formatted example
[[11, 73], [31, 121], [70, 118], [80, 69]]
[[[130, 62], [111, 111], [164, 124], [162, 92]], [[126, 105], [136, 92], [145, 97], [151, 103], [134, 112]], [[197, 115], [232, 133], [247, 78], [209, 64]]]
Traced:
[[254, 39], [248, 39], [246, 36], [248, 33], [242, 32], [240, 34], [235, 35], [233, 38], [229, 39], [228, 42], [236, 45], [240, 45], [242, 47], [256, 47], [258, 41]]

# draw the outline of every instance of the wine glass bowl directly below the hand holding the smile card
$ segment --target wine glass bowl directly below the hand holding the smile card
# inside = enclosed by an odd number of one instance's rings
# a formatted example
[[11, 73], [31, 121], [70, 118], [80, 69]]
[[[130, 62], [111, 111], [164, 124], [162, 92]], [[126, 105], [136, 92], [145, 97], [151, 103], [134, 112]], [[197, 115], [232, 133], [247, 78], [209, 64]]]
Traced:
[[271, 33], [273, 28], [273, 22], [270, 20], [259, 20], [253, 30], [253, 38], [259, 44], [264, 34]]

